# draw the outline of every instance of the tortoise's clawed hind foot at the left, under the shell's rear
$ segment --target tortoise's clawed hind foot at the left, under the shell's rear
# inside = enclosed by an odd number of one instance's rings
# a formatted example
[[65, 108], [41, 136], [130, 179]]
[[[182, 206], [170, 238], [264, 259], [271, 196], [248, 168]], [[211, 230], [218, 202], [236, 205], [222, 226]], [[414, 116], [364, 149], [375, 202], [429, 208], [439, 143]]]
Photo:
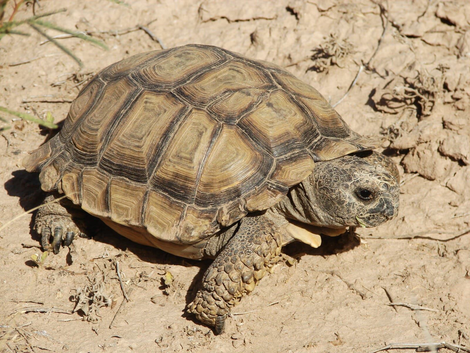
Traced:
[[43, 201], [48, 204], [39, 209], [34, 219], [34, 228], [41, 236], [42, 248], [44, 251], [52, 250], [54, 254], [59, 252], [62, 240], [64, 246], [70, 246], [76, 235], [86, 236], [82, 231], [85, 229], [83, 218], [86, 213], [77, 209], [68, 199], [49, 203], [59, 197], [58, 193], [48, 193]]

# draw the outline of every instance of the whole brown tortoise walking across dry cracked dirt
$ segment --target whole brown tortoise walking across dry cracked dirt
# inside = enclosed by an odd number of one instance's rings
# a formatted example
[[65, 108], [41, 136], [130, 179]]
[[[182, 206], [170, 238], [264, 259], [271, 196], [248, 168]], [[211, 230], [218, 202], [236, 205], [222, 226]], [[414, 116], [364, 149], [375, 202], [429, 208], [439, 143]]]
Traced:
[[397, 215], [398, 169], [373, 151], [383, 141], [280, 66], [192, 44], [99, 72], [23, 164], [46, 201], [67, 196], [37, 213], [45, 250], [86, 233], [81, 208], [137, 243], [212, 258], [187, 308], [222, 333], [282, 246]]

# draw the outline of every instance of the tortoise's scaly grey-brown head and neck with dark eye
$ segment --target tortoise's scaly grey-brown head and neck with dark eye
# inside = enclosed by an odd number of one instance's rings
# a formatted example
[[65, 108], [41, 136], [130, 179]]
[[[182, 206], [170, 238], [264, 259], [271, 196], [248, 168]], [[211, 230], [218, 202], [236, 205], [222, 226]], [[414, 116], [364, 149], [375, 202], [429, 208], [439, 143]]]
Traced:
[[375, 227], [398, 214], [399, 184], [380, 164], [357, 156], [316, 162], [277, 209], [286, 217], [329, 228]]

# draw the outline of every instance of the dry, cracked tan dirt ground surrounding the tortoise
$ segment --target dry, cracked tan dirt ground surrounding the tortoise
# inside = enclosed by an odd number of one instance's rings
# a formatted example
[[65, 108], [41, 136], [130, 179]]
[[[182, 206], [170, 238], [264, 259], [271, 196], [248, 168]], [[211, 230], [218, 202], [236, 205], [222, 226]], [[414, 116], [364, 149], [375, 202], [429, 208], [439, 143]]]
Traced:
[[[469, 349], [470, 1], [378, 1], [39, 1], [38, 12], [65, 4], [50, 21], [110, 50], [60, 39], [80, 69], [31, 28], [30, 37], [4, 37], [0, 106], [51, 112], [58, 122], [111, 63], [161, 45], [221, 46], [285, 67], [337, 104], [355, 131], [389, 136], [383, 149], [399, 164], [400, 210], [319, 249], [287, 246], [286, 261], [233, 309], [220, 336], [184, 313], [208, 262], [136, 245], [96, 223], [93, 240], [77, 239], [73, 252], [38, 266], [28, 214], [0, 233], [0, 352], [367, 353], [442, 341]], [[30, 15], [24, 7], [17, 18]], [[0, 136], [3, 224], [41, 203], [38, 176], [21, 160], [49, 133], [10, 125]]]

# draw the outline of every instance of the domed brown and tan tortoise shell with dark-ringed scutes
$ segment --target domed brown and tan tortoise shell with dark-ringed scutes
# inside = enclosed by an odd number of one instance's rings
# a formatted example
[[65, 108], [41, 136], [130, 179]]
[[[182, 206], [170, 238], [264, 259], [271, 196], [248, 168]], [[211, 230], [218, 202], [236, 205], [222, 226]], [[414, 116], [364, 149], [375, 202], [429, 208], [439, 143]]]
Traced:
[[274, 205], [315, 161], [381, 141], [274, 64], [187, 45], [98, 73], [24, 166], [107, 224], [190, 244]]

